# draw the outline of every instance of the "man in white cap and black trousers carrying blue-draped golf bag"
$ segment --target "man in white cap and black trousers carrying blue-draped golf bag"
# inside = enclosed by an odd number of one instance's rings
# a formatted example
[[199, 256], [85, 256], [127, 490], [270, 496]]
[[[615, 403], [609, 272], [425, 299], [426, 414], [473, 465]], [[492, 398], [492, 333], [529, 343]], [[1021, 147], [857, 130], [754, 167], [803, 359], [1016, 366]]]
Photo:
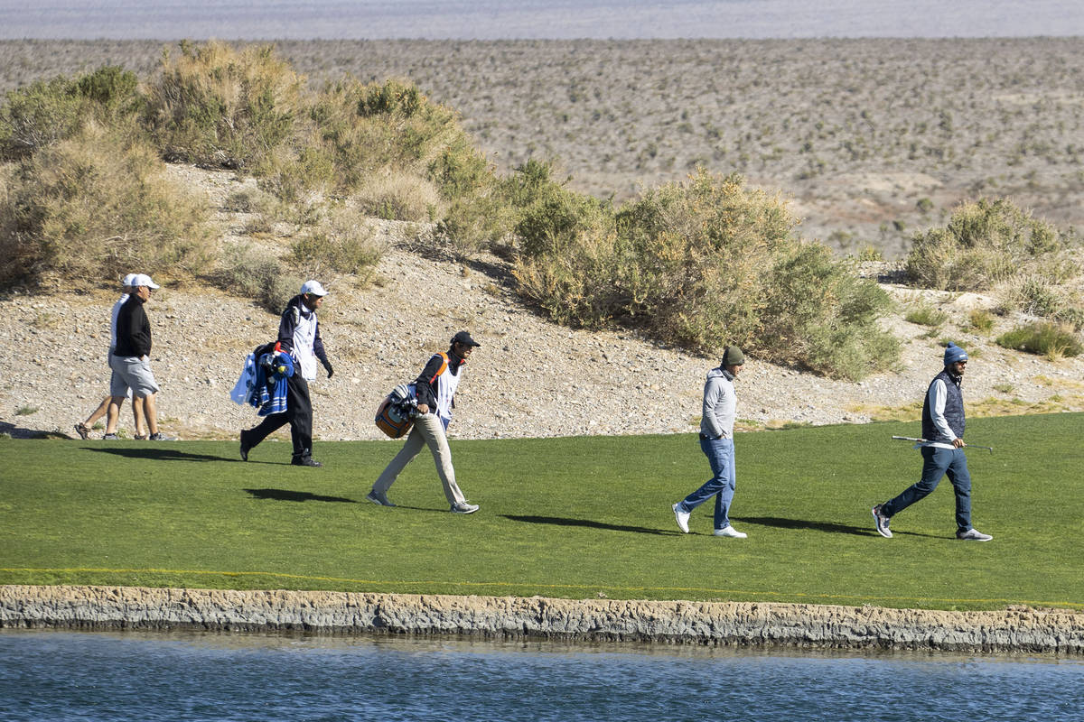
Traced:
[[301, 292], [289, 300], [279, 321], [276, 350], [294, 359], [294, 373], [286, 378], [286, 410], [270, 413], [255, 429], [241, 432], [241, 460], [248, 461], [248, 451], [271, 433], [289, 424], [294, 442], [295, 467], [322, 467], [312, 458], [312, 402], [309, 399], [309, 381], [317, 378], [317, 360], [323, 364], [327, 378], [335, 369], [327, 360], [324, 342], [320, 339], [317, 311], [323, 305], [327, 291], [318, 280], [307, 280]]

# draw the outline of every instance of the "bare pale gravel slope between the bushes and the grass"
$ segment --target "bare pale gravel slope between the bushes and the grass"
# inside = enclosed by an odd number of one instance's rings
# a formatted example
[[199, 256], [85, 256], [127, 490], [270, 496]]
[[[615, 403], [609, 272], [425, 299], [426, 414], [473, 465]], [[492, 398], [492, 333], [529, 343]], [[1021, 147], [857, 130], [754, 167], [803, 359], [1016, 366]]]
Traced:
[[[223, 245], [240, 240], [245, 214], [231, 210], [227, 199], [250, 181], [190, 166], [170, 166], [169, 173], [207, 195]], [[373, 223], [388, 248], [375, 283], [331, 283], [321, 312], [336, 372], [312, 386], [319, 438], [382, 438], [372, 419], [384, 394], [412, 380], [462, 328], [482, 347], [456, 396], [453, 437], [696, 431], [704, 377], [718, 359], [632, 332], [555, 325], [515, 296], [501, 259], [453, 262], [420, 254], [420, 239], [430, 231], [426, 224]], [[275, 252], [273, 238], [260, 242]], [[890, 268], [874, 264], [866, 272]], [[994, 299], [918, 290], [888, 283], [890, 274], [881, 277], [899, 300], [896, 313], [882, 321], [903, 341], [899, 368], [847, 382], [752, 357], [738, 391], [743, 428], [917, 420], [921, 395], [941, 367], [944, 338], [973, 351], [965, 381], [972, 416], [1084, 410], [1084, 357], [1049, 360], [1002, 349], [993, 339], [1018, 324], [1019, 315], [994, 316], [995, 327], [984, 333], [967, 323], [970, 310], [993, 307]], [[108, 315], [116, 297], [116, 290], [77, 280], [5, 293], [0, 431], [74, 436], [73, 424], [107, 393]], [[933, 329], [903, 320], [919, 300], [945, 311], [947, 320]], [[229, 392], [248, 351], [273, 338], [278, 317], [249, 300], [191, 283], [164, 284], [147, 313], [163, 429], [182, 438], [231, 438], [253, 425], [255, 412], [233, 404]], [[131, 433], [127, 412], [122, 426]]]

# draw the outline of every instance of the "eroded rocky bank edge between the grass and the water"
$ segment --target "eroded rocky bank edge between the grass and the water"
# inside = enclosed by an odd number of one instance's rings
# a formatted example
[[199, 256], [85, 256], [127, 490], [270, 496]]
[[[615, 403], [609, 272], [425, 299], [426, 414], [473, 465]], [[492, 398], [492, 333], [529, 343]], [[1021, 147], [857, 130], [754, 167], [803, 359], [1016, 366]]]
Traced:
[[453, 634], [494, 640], [1084, 654], [1084, 614], [761, 602], [0, 587], [0, 628]]

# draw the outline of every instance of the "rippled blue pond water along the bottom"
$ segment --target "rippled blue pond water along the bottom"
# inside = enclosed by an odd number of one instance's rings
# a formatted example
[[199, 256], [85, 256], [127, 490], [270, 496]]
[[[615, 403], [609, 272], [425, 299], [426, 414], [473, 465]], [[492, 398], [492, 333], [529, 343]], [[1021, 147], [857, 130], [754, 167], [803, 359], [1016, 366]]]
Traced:
[[0, 720], [1084, 720], [1084, 660], [0, 631]]

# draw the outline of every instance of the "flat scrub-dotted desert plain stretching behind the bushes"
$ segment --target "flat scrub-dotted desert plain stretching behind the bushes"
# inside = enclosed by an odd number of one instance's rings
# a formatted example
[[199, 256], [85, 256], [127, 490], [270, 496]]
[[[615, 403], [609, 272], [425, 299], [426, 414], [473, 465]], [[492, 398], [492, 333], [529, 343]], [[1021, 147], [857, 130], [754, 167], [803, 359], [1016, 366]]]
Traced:
[[[405, 77], [463, 114], [494, 162], [555, 157], [627, 199], [702, 165], [791, 198], [802, 233], [905, 253], [963, 199], [1084, 222], [1084, 38], [281, 41], [319, 86]], [[157, 41], [2, 41], [0, 91], [102, 64], [151, 74]]]

